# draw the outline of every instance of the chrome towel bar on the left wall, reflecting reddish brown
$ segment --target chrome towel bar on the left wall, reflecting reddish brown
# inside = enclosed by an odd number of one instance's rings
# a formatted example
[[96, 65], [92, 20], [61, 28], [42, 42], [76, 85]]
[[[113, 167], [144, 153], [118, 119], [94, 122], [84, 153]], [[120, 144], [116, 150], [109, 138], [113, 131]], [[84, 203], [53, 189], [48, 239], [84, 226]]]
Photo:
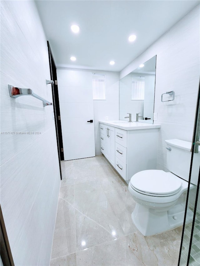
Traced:
[[23, 96], [23, 95], [31, 95], [31, 96], [37, 98], [38, 100], [41, 100], [43, 102], [43, 106], [53, 105], [52, 103], [46, 101], [42, 97], [33, 93], [32, 89], [21, 89], [21, 88], [14, 87], [12, 85], [8, 85], [8, 90], [9, 90], [10, 97], [12, 97], [12, 98], [17, 98], [17, 97]]

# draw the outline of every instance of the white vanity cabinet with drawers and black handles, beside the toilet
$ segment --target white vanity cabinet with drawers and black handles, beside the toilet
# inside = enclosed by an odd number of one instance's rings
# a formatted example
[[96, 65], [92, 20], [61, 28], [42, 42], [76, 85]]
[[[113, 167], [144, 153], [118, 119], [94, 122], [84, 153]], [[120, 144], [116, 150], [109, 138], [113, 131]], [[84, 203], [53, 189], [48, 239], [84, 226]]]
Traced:
[[[115, 125], [114, 122], [113, 126], [102, 122], [100, 124], [100, 127], [104, 128], [102, 131], [105, 130], [103, 136], [106, 139], [104, 144], [106, 152], [101, 151], [126, 181], [137, 172], [157, 169], [160, 125], [140, 124], [136, 123], [135, 126], [132, 124], [133, 127], [130, 129], [128, 125], [124, 127], [126, 130], [122, 129], [123, 126], [118, 128], [117, 123]], [[101, 143], [103, 143], [102, 139]]]

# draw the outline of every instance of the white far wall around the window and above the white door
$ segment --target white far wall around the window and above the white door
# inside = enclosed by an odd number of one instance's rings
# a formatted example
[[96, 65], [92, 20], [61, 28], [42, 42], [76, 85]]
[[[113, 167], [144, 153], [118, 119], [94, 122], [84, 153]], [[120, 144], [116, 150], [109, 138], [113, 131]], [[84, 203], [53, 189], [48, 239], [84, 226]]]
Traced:
[[[100, 126], [99, 120], [106, 120], [108, 116], [109, 120], [119, 119], [119, 73], [118, 72], [107, 72], [100, 70], [81, 70], [81, 69], [70, 69], [64, 67], [58, 67], [57, 73], [59, 71], [66, 71], [66, 75], [69, 70], [78, 71], [79, 75], [83, 74], [88, 76], [87, 72], [92, 72], [96, 74], [103, 74], [106, 76], [106, 99], [105, 100], [93, 100], [94, 104], [94, 134], [95, 134], [95, 155], [100, 155]], [[63, 72], [62, 72], [63, 73]], [[85, 73], [85, 74], [84, 74]], [[63, 74], [62, 74], [63, 75]], [[91, 82], [89, 82], [88, 87], [91, 87]], [[74, 78], [74, 86], [77, 85], [77, 79]], [[58, 80], [59, 86], [59, 80]], [[86, 85], [84, 85], [86, 86]], [[92, 90], [92, 88], [91, 88]]]

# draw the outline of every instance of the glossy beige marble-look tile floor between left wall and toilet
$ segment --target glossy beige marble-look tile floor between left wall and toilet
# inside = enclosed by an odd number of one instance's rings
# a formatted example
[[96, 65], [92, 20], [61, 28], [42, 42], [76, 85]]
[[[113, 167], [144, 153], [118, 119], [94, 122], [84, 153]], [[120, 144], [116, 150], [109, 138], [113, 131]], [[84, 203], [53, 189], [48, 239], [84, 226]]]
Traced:
[[103, 155], [62, 162], [51, 265], [178, 265], [182, 227], [144, 237], [128, 185]]

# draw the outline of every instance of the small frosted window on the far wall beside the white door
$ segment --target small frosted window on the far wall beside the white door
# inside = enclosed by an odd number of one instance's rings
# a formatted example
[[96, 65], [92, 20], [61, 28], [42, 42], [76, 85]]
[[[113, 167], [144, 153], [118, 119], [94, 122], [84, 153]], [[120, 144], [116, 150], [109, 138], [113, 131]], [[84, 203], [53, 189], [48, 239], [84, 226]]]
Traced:
[[93, 75], [93, 100], [105, 100], [105, 75]]

